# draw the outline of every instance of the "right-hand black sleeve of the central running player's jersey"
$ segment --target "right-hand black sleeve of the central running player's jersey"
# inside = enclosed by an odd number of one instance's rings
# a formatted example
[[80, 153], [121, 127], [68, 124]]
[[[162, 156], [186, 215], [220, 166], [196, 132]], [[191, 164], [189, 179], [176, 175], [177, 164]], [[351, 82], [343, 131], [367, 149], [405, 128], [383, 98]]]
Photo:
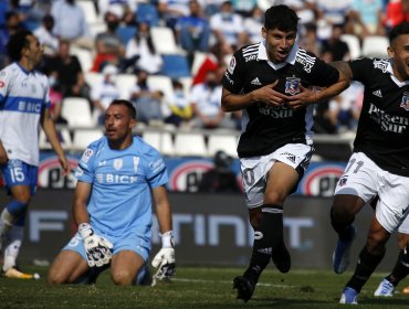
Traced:
[[[310, 54], [310, 53], [308, 53]], [[315, 57], [314, 64], [311, 67], [311, 72], [307, 72], [308, 82], [314, 86], [328, 87], [335, 84], [339, 79], [339, 72], [325, 63], [314, 54], [310, 54]]]

